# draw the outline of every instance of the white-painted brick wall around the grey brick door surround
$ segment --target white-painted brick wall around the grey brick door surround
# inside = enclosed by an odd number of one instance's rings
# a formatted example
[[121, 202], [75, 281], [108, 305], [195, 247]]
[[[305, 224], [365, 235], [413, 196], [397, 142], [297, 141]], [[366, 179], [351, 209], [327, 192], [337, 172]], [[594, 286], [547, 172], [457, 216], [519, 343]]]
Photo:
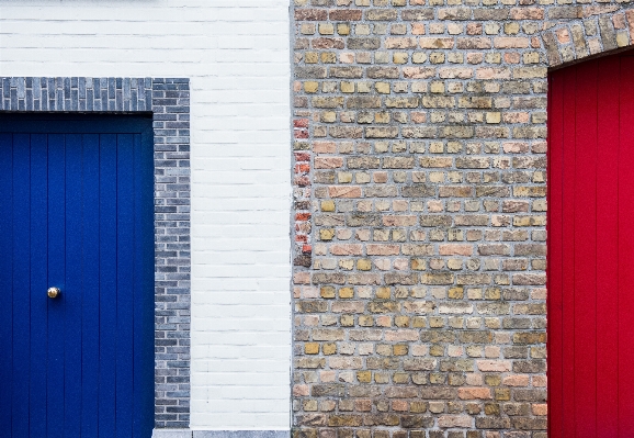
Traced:
[[290, 427], [288, 0], [0, 0], [0, 76], [188, 77], [193, 429]]

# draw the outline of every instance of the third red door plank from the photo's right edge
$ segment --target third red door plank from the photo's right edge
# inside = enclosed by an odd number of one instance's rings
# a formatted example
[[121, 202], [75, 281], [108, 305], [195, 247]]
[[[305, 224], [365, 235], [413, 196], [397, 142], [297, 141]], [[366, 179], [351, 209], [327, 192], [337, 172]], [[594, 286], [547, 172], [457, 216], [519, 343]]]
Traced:
[[575, 417], [582, 437], [597, 436], [597, 61], [577, 67]]

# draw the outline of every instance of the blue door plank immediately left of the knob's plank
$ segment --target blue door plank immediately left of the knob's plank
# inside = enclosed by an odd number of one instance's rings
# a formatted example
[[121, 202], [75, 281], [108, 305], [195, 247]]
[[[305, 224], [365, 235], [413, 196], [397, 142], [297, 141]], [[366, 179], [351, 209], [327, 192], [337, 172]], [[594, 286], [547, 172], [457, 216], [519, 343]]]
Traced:
[[31, 436], [46, 436], [48, 142], [31, 135]]

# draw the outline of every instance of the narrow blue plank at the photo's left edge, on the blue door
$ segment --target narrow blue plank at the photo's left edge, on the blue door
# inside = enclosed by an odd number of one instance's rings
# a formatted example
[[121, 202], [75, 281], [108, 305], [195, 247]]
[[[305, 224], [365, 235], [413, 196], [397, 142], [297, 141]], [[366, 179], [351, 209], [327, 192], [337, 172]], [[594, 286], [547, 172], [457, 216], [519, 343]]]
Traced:
[[[0, 248], [13, 254], [13, 136], [0, 133], [0, 187], [3, 188], [7, 214], [0, 214]], [[0, 306], [0, 430], [11, 430], [13, 397], [13, 257], [0, 257], [0, 284], [10, 284], [4, 305]]]

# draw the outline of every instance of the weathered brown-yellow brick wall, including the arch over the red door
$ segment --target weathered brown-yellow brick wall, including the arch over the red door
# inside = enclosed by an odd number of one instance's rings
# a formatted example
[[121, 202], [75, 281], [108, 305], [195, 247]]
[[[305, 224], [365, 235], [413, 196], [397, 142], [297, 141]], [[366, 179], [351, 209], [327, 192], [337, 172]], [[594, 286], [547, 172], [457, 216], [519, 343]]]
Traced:
[[294, 0], [295, 436], [545, 438], [547, 69], [631, 8]]

